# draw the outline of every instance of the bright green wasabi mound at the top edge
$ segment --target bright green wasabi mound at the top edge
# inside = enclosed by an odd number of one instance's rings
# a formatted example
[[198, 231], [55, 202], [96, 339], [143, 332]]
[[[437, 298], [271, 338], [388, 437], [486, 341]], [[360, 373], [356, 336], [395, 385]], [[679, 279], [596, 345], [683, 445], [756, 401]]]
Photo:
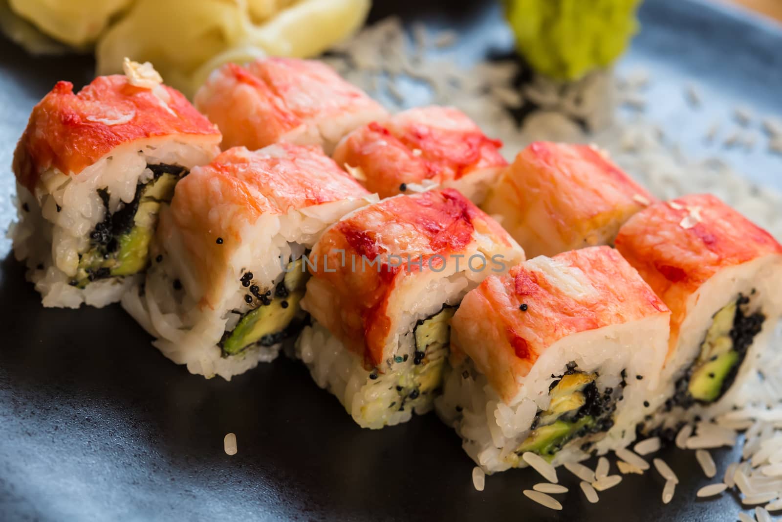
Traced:
[[518, 52], [538, 72], [577, 80], [612, 63], [638, 31], [640, 0], [504, 0]]

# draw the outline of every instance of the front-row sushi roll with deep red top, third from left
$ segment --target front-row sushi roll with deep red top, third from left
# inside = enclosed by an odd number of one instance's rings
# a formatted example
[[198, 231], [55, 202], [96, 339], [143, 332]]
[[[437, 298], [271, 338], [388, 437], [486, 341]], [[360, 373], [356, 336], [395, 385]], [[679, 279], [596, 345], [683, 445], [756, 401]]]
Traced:
[[296, 355], [361, 427], [404, 423], [439, 391], [461, 297], [523, 251], [454, 189], [382, 200], [318, 240]]

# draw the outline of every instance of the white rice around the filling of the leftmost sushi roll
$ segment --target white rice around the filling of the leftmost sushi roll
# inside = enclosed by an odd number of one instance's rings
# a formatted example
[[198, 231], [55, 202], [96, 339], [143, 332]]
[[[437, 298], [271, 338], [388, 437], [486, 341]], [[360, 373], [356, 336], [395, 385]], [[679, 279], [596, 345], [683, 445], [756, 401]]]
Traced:
[[[68, 284], [77, 273], [79, 254], [90, 247], [90, 232], [106, 214], [99, 189], [108, 190], [109, 211], [115, 212], [135, 198], [138, 182], [151, 177], [147, 164], [189, 169], [208, 163], [215, 153], [217, 146], [210, 143], [170, 137], [140, 140], [116, 147], [77, 175], [52, 167], [41, 176], [35, 193], [17, 184], [20, 221], [11, 226], [9, 237], [16, 259], [26, 261], [27, 279], [41, 293], [43, 305], [102, 307], [119, 301], [134, 283], [134, 277], [124, 277], [98, 280], [84, 289]], [[23, 211], [25, 204], [29, 211]]]

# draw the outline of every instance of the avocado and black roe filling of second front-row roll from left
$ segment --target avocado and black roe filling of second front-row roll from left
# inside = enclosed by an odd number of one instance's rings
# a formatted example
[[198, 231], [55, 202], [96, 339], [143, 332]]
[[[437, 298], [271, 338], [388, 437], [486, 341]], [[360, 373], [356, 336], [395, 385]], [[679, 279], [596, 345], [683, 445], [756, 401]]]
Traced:
[[302, 257], [291, 261], [274, 291], [261, 292], [252, 277], [250, 272], [246, 272], [241, 281], [242, 286], [248, 289], [245, 301], [256, 308], [243, 313], [234, 329], [223, 334], [220, 341], [223, 357], [241, 354], [255, 346], [270, 347], [282, 343], [303, 326], [306, 318], [300, 302], [309, 274], [303, 268]]

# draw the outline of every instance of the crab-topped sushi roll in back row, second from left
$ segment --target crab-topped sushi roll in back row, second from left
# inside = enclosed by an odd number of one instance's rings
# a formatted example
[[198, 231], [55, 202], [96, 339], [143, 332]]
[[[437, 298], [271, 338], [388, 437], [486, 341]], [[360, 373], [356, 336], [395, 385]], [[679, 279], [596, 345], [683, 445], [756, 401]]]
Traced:
[[382, 198], [451, 187], [478, 204], [508, 166], [501, 146], [460, 110], [429, 106], [357, 128], [332, 157]]

